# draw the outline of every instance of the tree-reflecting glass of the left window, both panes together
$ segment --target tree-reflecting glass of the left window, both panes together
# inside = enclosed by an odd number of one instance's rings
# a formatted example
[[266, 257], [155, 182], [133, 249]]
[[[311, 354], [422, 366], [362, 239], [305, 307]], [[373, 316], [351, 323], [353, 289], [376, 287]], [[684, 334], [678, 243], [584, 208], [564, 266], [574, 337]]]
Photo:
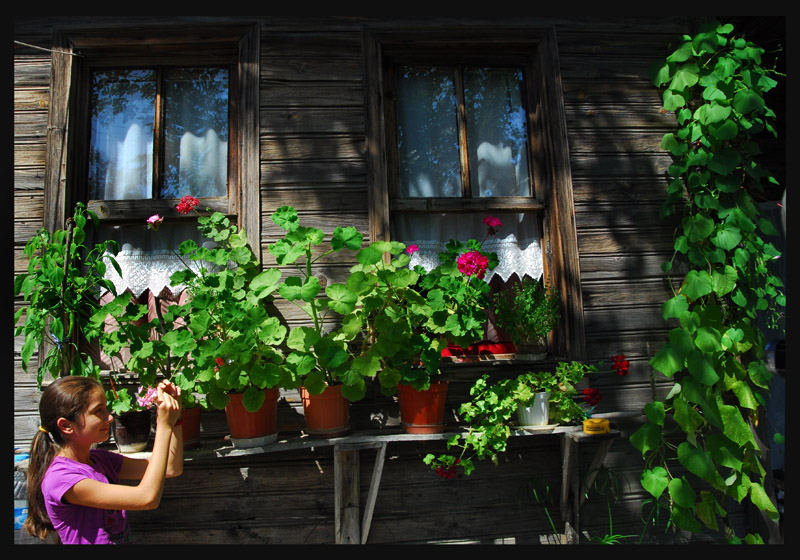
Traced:
[[89, 198], [152, 198], [157, 134], [164, 146], [157, 196], [227, 196], [229, 71], [165, 68], [163, 76], [163, 131], [156, 131], [156, 70], [93, 72]]

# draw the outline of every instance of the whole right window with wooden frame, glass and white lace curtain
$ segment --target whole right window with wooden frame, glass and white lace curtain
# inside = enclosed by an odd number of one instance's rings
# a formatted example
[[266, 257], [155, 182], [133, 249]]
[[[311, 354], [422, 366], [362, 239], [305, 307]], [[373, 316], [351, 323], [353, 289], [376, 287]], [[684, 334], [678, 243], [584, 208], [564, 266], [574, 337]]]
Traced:
[[554, 355], [583, 352], [569, 157], [552, 33], [369, 31], [374, 238], [435, 266], [451, 238], [486, 238], [495, 289], [529, 276], [562, 295]]

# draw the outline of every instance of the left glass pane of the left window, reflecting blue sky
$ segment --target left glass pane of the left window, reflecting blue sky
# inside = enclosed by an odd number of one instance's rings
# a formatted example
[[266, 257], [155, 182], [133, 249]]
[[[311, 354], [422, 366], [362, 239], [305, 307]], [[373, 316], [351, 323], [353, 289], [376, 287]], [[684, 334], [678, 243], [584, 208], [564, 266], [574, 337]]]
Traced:
[[92, 74], [89, 198], [152, 197], [154, 70]]

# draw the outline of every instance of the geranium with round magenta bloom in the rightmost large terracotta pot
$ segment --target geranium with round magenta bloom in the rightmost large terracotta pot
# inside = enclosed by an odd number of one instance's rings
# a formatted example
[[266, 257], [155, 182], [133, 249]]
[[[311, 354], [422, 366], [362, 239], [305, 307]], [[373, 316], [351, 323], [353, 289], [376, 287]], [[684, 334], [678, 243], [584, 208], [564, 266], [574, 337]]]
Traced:
[[442, 353], [483, 337], [489, 293], [483, 278], [497, 255], [482, 252], [475, 240], [451, 240], [438, 266], [412, 270], [416, 250], [377, 241], [359, 252], [348, 278], [359, 299], [346, 324], [365, 331], [361, 367], [380, 372], [382, 391], [396, 387], [404, 429], [436, 433], [444, 430], [449, 383], [441, 378]]

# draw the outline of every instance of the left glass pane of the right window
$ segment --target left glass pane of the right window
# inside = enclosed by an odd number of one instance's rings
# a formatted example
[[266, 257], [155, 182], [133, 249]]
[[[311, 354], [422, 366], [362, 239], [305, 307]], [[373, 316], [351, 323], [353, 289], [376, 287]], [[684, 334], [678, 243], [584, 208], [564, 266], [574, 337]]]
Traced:
[[400, 197], [461, 196], [456, 107], [451, 71], [398, 68]]

